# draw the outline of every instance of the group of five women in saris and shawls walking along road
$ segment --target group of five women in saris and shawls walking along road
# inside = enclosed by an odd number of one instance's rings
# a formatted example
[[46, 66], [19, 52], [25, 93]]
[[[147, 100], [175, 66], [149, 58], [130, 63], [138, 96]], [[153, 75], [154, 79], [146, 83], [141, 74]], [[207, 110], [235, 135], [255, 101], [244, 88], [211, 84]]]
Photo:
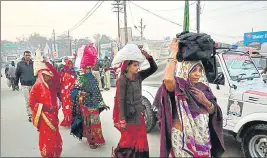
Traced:
[[[170, 43], [169, 49], [164, 80], [154, 101], [159, 109], [159, 156], [221, 157], [224, 152], [222, 113], [206, 84], [204, 67], [201, 61], [183, 61], [180, 70], [176, 70], [177, 39]], [[139, 71], [140, 62], [127, 59], [120, 64], [113, 122], [121, 137], [110, 153], [114, 158], [148, 158], [142, 81], [158, 67], [153, 57], [137, 45], [129, 51], [142, 54], [150, 67]], [[100, 114], [110, 106], [104, 102], [92, 73], [95, 59], [92, 56], [84, 59], [87, 60], [81, 62], [83, 73], [77, 75], [71, 60], [66, 59], [64, 68], [58, 71], [40, 51], [36, 52], [33, 69], [37, 79], [30, 89], [28, 106], [32, 123], [39, 132], [42, 157], [60, 157], [62, 153], [59, 102], [64, 114], [61, 126], [70, 128], [71, 135], [78, 140], [86, 138], [91, 149], [105, 144]]]

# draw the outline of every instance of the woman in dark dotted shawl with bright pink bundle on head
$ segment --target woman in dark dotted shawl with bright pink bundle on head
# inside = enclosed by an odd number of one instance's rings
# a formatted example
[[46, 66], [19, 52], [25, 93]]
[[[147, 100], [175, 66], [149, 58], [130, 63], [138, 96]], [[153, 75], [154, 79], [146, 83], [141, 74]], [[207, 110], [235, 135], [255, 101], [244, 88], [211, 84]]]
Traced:
[[77, 78], [71, 90], [71, 134], [79, 140], [86, 137], [90, 148], [96, 149], [105, 144], [100, 113], [109, 107], [104, 103], [97, 80], [92, 74], [92, 67], [96, 64], [96, 50], [92, 45], [86, 46], [85, 50], [81, 60], [84, 74]]

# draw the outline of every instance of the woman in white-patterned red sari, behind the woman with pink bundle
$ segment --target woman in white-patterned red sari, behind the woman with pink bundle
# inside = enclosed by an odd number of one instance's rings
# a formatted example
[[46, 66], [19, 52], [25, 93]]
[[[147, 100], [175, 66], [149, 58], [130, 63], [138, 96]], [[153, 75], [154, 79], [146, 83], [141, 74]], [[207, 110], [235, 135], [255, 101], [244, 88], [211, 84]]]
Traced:
[[60, 123], [60, 126], [70, 127], [72, 122], [71, 113], [71, 97], [70, 92], [76, 80], [76, 73], [73, 71], [73, 62], [70, 59], [65, 60], [65, 65], [61, 69], [61, 101], [62, 101], [62, 112], [64, 119]]

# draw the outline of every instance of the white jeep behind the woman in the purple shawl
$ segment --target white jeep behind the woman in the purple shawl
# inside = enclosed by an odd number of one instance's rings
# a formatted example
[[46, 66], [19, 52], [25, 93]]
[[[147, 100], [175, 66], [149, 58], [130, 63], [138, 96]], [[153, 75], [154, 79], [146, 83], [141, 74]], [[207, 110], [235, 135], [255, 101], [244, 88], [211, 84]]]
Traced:
[[[223, 112], [225, 132], [241, 143], [246, 157], [266, 157], [267, 84], [249, 54], [225, 49], [218, 50], [216, 58], [218, 75], [209, 87]], [[160, 71], [164, 71], [166, 61], [158, 61], [162, 65]], [[158, 77], [158, 80], [161, 84], [162, 78]], [[157, 108], [152, 106], [159, 87], [155, 83], [143, 85], [142, 91], [147, 132], [157, 122]]]

